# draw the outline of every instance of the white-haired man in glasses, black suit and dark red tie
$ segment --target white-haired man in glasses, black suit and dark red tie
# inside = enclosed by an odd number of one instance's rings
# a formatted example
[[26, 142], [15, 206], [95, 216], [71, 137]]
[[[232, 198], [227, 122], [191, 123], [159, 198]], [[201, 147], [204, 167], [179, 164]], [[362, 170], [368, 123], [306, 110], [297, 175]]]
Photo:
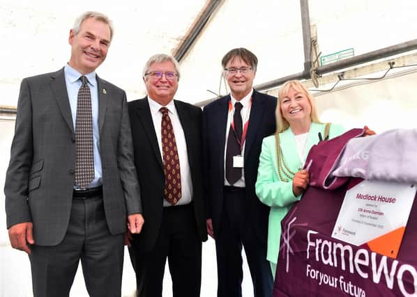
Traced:
[[[199, 296], [206, 222], [202, 192], [201, 116], [174, 100], [179, 64], [157, 54], [146, 62], [148, 96], [129, 102], [135, 165], [146, 224], [130, 257], [137, 296], [162, 296], [168, 258], [173, 296]], [[139, 236], [137, 236], [139, 235]]]

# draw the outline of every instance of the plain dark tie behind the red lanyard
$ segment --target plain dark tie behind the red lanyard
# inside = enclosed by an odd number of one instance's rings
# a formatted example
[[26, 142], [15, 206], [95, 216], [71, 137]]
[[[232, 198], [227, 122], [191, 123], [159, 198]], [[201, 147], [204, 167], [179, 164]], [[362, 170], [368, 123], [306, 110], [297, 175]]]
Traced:
[[229, 136], [227, 137], [227, 149], [226, 149], [226, 179], [229, 184], [234, 184], [242, 177], [242, 168], [233, 167], [233, 156], [241, 154], [241, 139], [242, 139], [242, 109], [241, 102], [234, 104], [234, 129], [230, 125]]

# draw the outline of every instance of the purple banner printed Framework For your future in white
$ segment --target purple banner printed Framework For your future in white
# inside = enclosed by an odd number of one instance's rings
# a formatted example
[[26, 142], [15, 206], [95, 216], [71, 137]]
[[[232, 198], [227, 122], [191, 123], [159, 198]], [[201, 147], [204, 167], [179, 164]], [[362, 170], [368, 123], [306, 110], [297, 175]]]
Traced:
[[347, 183], [308, 188], [282, 220], [273, 296], [417, 296], [417, 208], [397, 258], [331, 238]]

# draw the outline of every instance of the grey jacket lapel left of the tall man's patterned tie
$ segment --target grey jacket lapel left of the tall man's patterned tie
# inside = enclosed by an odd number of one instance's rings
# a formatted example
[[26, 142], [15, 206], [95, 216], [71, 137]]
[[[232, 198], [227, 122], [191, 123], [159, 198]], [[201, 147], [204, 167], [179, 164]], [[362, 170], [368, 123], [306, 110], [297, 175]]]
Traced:
[[51, 78], [50, 86], [55, 95], [56, 103], [59, 106], [59, 110], [61, 111], [68, 128], [74, 133], [73, 116], [71, 115], [70, 100], [68, 99], [63, 68], [52, 74]]

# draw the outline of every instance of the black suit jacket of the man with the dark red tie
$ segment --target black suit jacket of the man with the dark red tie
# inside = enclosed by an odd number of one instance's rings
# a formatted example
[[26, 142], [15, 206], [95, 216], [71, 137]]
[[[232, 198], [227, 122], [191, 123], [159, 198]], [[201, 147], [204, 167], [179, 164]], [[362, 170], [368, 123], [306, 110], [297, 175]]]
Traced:
[[[197, 106], [174, 100], [176, 111], [183, 127], [187, 143], [188, 163], [192, 180], [192, 201], [199, 239], [207, 239], [206, 220], [202, 188], [201, 166], [201, 118], [202, 110]], [[162, 220], [165, 176], [162, 157], [153, 126], [148, 98], [128, 103], [132, 126], [135, 166], [140, 184], [145, 224], [142, 232], [135, 236], [135, 246], [146, 252], [155, 245]]]

